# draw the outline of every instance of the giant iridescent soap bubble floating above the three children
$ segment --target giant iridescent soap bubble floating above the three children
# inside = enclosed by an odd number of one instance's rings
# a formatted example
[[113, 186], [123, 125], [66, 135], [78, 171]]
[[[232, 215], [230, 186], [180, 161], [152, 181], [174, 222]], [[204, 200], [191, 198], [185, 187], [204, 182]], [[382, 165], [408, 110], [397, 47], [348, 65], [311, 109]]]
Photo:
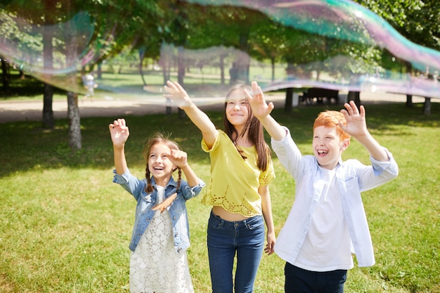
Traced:
[[167, 79], [203, 103], [231, 79], [440, 98], [439, 51], [348, 0], [46, 2], [0, 6], [0, 56], [67, 91], [93, 74], [97, 98], [150, 103], [166, 103]]

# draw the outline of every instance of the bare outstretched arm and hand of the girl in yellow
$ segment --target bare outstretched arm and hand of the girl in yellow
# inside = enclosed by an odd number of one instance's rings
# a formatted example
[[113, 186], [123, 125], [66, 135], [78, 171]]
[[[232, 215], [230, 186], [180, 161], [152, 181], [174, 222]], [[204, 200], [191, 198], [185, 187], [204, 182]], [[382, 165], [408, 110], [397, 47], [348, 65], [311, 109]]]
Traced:
[[190, 99], [188, 93], [183, 89], [183, 87], [178, 82], [167, 82], [167, 85], [164, 86], [164, 90], [167, 93], [164, 93], [165, 98], [171, 98], [174, 100], [179, 108], [186, 112], [186, 115], [191, 119], [191, 121], [195, 124], [195, 126], [202, 131], [202, 136], [209, 148], [214, 144], [215, 139], [219, 135], [219, 131], [217, 131], [214, 123], [212, 123], [211, 119], [202, 112]]

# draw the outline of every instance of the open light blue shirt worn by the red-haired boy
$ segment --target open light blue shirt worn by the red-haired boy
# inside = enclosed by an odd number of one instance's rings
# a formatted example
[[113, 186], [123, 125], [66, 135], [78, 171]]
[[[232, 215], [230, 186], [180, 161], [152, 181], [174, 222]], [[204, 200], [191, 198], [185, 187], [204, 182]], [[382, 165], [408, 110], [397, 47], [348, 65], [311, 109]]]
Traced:
[[[319, 202], [323, 180], [316, 157], [303, 156], [285, 128], [287, 135], [281, 141], [271, 139], [271, 145], [281, 164], [293, 176], [296, 184], [295, 202], [285, 225], [280, 230], [274, 247], [276, 254], [289, 263], [295, 259], [309, 232], [313, 211]], [[385, 149], [386, 150], [386, 149]], [[389, 161], [380, 162], [370, 157], [372, 165], [365, 165], [356, 159], [339, 160], [336, 184], [342, 202], [342, 212], [358, 266], [373, 266], [375, 257], [370, 230], [363, 209], [361, 192], [391, 181], [399, 174], [399, 168], [392, 154], [387, 151]]]

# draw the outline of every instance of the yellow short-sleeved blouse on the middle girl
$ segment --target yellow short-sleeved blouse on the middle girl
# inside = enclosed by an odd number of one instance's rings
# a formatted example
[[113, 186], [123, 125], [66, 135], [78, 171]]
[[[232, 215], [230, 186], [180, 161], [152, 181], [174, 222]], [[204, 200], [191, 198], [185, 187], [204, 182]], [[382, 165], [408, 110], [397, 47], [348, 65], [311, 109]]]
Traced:
[[202, 140], [202, 149], [209, 152], [211, 178], [202, 203], [223, 207], [226, 211], [242, 216], [261, 215], [259, 185], [268, 185], [275, 178], [272, 161], [266, 171], [257, 167], [257, 150], [240, 147], [247, 159], [243, 159], [228, 135], [219, 130], [214, 145], [209, 149]]

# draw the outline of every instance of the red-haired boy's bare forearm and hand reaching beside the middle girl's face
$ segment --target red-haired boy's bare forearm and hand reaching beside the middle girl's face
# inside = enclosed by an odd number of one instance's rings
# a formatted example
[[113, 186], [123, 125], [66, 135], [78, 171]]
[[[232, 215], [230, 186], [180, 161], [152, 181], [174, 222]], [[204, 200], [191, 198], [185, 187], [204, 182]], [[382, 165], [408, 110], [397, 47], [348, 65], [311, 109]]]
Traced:
[[286, 136], [285, 129], [273, 119], [271, 112], [273, 110], [273, 103], [266, 103], [264, 100], [264, 94], [261, 87], [257, 82], [252, 82], [252, 94], [246, 91], [247, 100], [249, 100], [250, 106], [254, 116], [261, 121], [264, 129], [268, 134], [276, 141], [281, 141]]

